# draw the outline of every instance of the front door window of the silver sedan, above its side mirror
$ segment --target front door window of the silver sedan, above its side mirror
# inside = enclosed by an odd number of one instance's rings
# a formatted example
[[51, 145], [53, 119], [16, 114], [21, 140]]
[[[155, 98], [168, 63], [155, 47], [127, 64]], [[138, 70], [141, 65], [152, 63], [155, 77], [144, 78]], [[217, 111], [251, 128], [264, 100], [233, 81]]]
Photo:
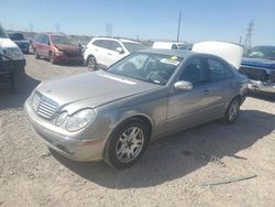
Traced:
[[202, 58], [194, 58], [187, 63], [179, 80], [190, 81], [193, 84], [200, 84], [207, 81], [207, 70]]

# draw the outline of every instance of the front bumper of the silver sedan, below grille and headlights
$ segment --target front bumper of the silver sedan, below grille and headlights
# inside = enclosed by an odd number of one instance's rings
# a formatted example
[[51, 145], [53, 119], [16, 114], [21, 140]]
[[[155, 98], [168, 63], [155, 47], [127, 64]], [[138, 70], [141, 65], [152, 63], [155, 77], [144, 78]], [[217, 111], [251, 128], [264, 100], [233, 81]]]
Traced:
[[26, 100], [25, 112], [32, 129], [48, 148], [75, 161], [102, 160], [105, 142], [102, 139], [76, 139], [77, 134], [63, 134], [51, 129], [52, 123], [42, 120]]

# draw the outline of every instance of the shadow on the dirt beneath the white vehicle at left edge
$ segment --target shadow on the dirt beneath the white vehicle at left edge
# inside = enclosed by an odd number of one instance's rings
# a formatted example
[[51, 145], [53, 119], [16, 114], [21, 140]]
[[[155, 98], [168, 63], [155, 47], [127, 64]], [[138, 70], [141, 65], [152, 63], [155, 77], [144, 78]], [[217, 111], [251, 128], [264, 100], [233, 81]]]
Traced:
[[25, 86], [20, 90], [12, 90], [9, 83], [0, 83], [0, 110], [22, 108], [32, 90], [40, 84], [26, 75]]

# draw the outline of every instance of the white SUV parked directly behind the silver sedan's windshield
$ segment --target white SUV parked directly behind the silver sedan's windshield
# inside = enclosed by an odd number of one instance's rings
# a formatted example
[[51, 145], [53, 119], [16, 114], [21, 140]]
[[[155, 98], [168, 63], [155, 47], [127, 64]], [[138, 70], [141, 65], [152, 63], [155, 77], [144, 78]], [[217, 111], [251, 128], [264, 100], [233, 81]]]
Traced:
[[130, 53], [146, 48], [136, 41], [127, 39], [94, 37], [84, 54], [90, 70], [107, 68]]

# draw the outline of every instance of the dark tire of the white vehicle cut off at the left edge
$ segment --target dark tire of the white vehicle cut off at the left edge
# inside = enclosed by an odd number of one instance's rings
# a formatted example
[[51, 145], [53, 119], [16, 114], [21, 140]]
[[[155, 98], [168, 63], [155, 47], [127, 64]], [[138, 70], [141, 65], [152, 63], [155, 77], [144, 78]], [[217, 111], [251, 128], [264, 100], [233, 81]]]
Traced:
[[23, 91], [25, 89], [25, 69], [24, 67], [16, 68], [11, 73], [11, 88], [15, 91]]

